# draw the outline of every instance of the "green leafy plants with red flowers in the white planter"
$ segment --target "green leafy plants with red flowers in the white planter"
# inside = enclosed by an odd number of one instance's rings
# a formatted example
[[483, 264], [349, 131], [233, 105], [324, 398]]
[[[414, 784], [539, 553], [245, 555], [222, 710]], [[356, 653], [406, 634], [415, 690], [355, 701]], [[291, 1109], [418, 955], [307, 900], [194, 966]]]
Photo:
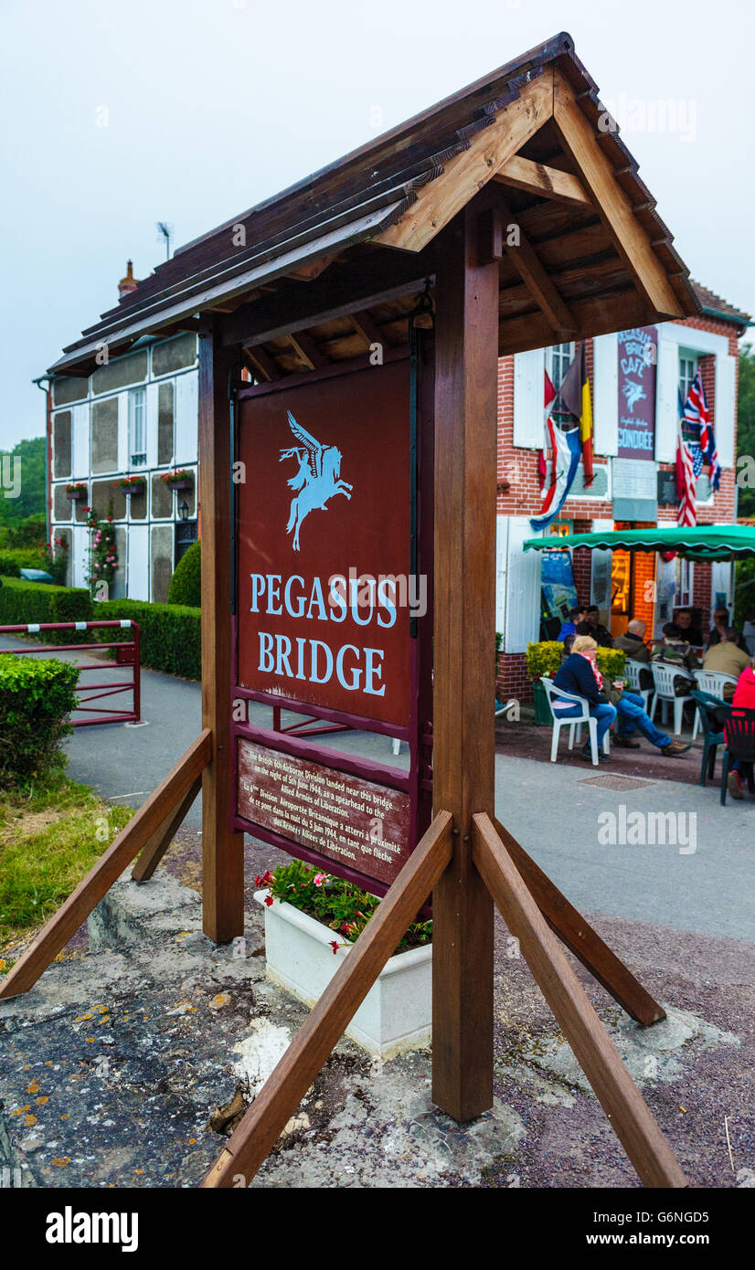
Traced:
[[[350, 944], [358, 939], [380, 904], [375, 895], [341, 878], [332, 878], [304, 860], [278, 865], [275, 872], [268, 870], [257, 878], [257, 885], [267, 886], [266, 904], [272, 904], [273, 899], [291, 904], [323, 926], [329, 926]], [[397, 952], [421, 947], [431, 941], [432, 922], [412, 922], [397, 946]], [[338, 940], [333, 940], [330, 946], [336, 952]]]

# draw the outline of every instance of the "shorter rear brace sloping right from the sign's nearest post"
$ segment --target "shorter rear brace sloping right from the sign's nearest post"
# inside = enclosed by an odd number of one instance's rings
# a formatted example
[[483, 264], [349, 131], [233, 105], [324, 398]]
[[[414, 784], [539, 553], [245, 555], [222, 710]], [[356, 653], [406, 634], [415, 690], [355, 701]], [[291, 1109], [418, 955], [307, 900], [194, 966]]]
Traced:
[[558, 886], [550, 881], [548, 874], [543, 872], [500, 820], [493, 818], [493, 824], [543, 917], [550, 930], [566, 944], [569, 952], [578, 958], [582, 965], [590, 970], [606, 992], [610, 992], [614, 1001], [618, 1001], [636, 1022], [650, 1027], [651, 1024], [665, 1019], [663, 1007], [653, 1001], [650, 992], [642, 987], [616, 954], [611, 952], [608, 944], [604, 944], [597, 931], [592, 930], [590, 922], [586, 922], [582, 914], [569, 904], [566, 895], [562, 895]]

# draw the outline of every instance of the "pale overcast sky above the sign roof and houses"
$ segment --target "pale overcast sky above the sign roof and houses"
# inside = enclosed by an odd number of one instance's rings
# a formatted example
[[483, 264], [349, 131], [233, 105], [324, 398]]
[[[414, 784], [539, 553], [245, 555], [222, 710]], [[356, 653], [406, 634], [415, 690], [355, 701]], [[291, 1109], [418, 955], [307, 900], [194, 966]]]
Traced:
[[[31, 380], [179, 245], [568, 30], [693, 277], [755, 314], [755, 4], [1, 0], [0, 444]], [[675, 131], [651, 130], [656, 103]], [[671, 112], [666, 110], [670, 121]]]

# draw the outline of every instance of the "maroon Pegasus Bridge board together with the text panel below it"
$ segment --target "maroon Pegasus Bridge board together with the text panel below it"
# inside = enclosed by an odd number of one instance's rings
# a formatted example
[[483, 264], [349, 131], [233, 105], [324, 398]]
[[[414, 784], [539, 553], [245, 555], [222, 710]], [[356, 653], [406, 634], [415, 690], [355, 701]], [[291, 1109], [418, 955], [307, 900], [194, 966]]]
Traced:
[[[231, 691], [271, 705], [273, 725], [234, 710], [234, 823], [378, 893], [430, 812], [418, 715], [428, 632], [413, 638], [411, 622], [423, 611], [412, 390], [409, 358], [395, 356], [241, 390], [236, 406]], [[286, 733], [281, 709], [311, 725]], [[378, 761], [315, 739], [339, 725], [381, 734]], [[408, 743], [408, 772], [388, 763], [390, 737]]]

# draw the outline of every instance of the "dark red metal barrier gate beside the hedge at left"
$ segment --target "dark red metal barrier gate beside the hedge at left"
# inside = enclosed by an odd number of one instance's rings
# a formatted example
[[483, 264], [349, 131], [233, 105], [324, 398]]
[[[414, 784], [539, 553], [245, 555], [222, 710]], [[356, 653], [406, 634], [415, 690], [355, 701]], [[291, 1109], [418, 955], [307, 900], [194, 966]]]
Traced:
[[[41, 631], [90, 631], [102, 627], [130, 630], [132, 632], [132, 639], [113, 644], [42, 644], [34, 645], [33, 648], [4, 648], [0, 649], [0, 655], [3, 655], [3, 653], [10, 653], [13, 657], [24, 657], [39, 653], [93, 653], [99, 652], [100, 649], [114, 649], [116, 660], [112, 665], [103, 662], [98, 665], [79, 667], [79, 686], [76, 691], [89, 695], [79, 697], [79, 705], [75, 706], [74, 712], [81, 711], [83, 714], [92, 714], [93, 707], [89, 702], [99, 701], [100, 697], [116, 696], [116, 693], [119, 692], [133, 693], [132, 709], [113, 710], [109, 707], [108, 710], [103, 710], [100, 712], [95, 711], [94, 719], [72, 719], [71, 723], [74, 724], [74, 728], [86, 728], [95, 723], [141, 723], [141, 634], [136, 622], [127, 618], [109, 622], [41, 622], [38, 625], [28, 622], [20, 626], [0, 626], [0, 635], [37, 635]], [[123, 665], [132, 667], [132, 677], [130, 679], [114, 679], [111, 682], [104, 681], [102, 683], [81, 683], [83, 674], [117, 671]]]

